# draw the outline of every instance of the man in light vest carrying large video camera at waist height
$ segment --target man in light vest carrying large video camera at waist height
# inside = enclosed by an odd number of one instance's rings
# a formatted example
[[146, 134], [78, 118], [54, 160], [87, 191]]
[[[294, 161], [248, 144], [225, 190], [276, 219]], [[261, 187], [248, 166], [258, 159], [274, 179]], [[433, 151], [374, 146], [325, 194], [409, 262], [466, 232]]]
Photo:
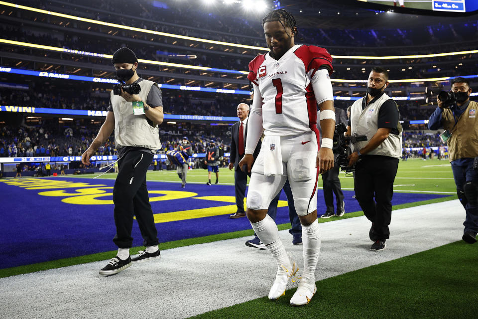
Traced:
[[[368, 77], [367, 94], [351, 108], [347, 135], [366, 135], [367, 141], [352, 145], [349, 166], [356, 165], [355, 196], [372, 222], [370, 250], [385, 249], [390, 236], [393, 182], [402, 153], [402, 126], [398, 106], [384, 93], [388, 72], [374, 67]], [[375, 200], [374, 200], [375, 197]]]

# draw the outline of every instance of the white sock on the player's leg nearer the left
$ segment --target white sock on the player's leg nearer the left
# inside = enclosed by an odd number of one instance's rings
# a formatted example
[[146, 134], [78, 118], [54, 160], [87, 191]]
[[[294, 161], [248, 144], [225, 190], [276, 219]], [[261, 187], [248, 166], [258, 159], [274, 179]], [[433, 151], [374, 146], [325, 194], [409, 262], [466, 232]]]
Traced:
[[278, 265], [283, 265], [286, 268], [290, 268], [289, 256], [285, 251], [284, 245], [279, 238], [279, 230], [277, 225], [269, 215], [265, 215], [265, 218], [257, 223], [250, 223], [252, 229], [255, 231], [260, 241], [267, 247], [269, 252], [277, 261]]

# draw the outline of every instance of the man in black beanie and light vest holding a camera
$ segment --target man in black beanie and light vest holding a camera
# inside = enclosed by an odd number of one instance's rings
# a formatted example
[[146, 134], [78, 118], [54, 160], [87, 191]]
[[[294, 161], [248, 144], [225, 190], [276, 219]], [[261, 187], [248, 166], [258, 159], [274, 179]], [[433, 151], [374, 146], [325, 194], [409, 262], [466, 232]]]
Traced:
[[[130, 49], [120, 48], [112, 62], [121, 84], [111, 92], [105, 123], [81, 158], [84, 164], [89, 164], [90, 158], [115, 130], [119, 172], [113, 188], [116, 225], [113, 241], [119, 249], [117, 256], [100, 270], [100, 275], [114, 275], [128, 268], [131, 262], [160, 256], [146, 172], [153, 154], [161, 149], [158, 125], [163, 122], [162, 93], [156, 83], [137, 75], [138, 59]], [[133, 216], [138, 221], [146, 249], [131, 259]]]

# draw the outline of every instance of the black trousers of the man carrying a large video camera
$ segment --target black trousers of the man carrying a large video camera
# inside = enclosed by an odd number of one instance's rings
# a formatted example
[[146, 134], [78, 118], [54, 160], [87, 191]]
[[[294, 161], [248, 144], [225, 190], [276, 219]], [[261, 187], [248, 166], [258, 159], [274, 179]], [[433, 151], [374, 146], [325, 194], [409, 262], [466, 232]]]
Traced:
[[393, 182], [398, 162], [388, 156], [365, 155], [356, 164], [355, 196], [363, 213], [373, 223], [375, 240], [390, 236], [388, 225], [392, 217]]

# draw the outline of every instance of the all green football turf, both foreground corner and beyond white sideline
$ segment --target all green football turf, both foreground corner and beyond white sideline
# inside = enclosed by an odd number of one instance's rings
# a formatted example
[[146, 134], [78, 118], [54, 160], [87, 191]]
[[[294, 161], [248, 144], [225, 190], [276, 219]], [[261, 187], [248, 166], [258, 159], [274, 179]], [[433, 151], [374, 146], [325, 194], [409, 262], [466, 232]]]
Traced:
[[[97, 174], [96, 174], [97, 175]], [[96, 175], [78, 175], [94, 177]], [[116, 177], [108, 173], [100, 178]], [[344, 189], [352, 189], [353, 178], [341, 174]], [[149, 171], [148, 180], [180, 182], [175, 171]], [[220, 184], [233, 184], [234, 174], [220, 169]], [[188, 182], [206, 183], [207, 171], [191, 170]], [[215, 177], [212, 178], [214, 183]], [[214, 191], [214, 184], [211, 191]], [[187, 188], [186, 188], [187, 189]], [[394, 189], [396, 192], [425, 192], [449, 195], [410, 204], [396, 205], [394, 210], [433, 202], [456, 199], [456, 188], [448, 160], [400, 161]], [[458, 206], [457, 209], [463, 209]], [[344, 218], [361, 216], [361, 211]], [[465, 217], [465, 214], [463, 214]], [[334, 218], [319, 220], [333, 222]], [[413, 220], [410, 221], [413, 223]], [[431, 223], [433, 220], [430, 221]], [[278, 225], [280, 230], [290, 224]], [[162, 250], [252, 235], [252, 230], [192, 238], [161, 244]], [[386, 263], [359, 269], [317, 282], [320, 292], [304, 307], [288, 304], [294, 290], [285, 298], [271, 302], [267, 297], [219, 309], [194, 318], [473, 318], [478, 311], [478, 244], [455, 243]], [[424, 241], [429, 240], [423, 238]], [[133, 254], [140, 247], [132, 249]], [[113, 252], [67, 258], [28, 266], [0, 270], [0, 278], [45, 269], [107, 260]], [[253, 270], [244, 270], [249, 276]], [[224, 296], [223, 296], [224, 297]]]

